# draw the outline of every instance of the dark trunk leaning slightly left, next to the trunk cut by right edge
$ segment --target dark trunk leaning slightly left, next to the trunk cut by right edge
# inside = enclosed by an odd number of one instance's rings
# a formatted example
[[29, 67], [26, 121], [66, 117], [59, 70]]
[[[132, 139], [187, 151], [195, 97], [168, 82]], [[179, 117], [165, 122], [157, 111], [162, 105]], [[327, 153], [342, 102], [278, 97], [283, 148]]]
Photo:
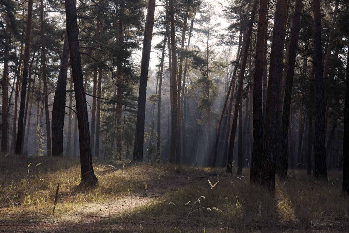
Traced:
[[324, 75], [322, 73], [320, 0], [313, 1], [314, 10], [314, 64], [315, 64], [315, 141], [314, 176], [327, 179], [325, 148]]

